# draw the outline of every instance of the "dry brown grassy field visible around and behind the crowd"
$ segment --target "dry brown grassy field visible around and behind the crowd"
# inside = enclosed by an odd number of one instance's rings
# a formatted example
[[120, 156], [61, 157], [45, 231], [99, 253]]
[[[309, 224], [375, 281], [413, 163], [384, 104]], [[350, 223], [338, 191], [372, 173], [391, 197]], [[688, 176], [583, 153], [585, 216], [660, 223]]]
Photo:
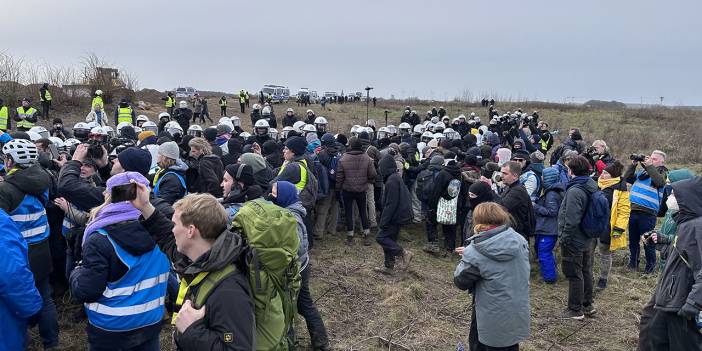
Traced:
[[[147, 99], [160, 105], [154, 97]], [[399, 123], [404, 102], [379, 102], [371, 107], [370, 115], [384, 124], [384, 110], [391, 111], [389, 122]], [[420, 115], [432, 105], [412, 103]], [[439, 103], [436, 104], [438, 107]], [[454, 117], [459, 113], [476, 112], [486, 115], [481, 107], [465, 104], [443, 104]], [[219, 115], [216, 99], [210, 99], [213, 116]], [[275, 105], [280, 118], [287, 107], [295, 108], [298, 116], [304, 107]], [[335, 132], [348, 132], [353, 124], [365, 123], [364, 103], [328, 105], [327, 111], [312, 107], [317, 115], [327, 116]], [[514, 110], [517, 104], [501, 106], [500, 111]], [[625, 110], [606, 111], [556, 105], [521, 104], [531, 112], [538, 109], [552, 129], [566, 131], [580, 127], [586, 140], [604, 139], [616, 158], [626, 159], [629, 153], [648, 153], [653, 148], [668, 152], [673, 167], [686, 166], [700, 172], [699, 142], [689, 126], [702, 122], [701, 112], [687, 110]], [[160, 108], [145, 111], [155, 117]], [[76, 122], [87, 113], [80, 110], [56, 111], [68, 122]], [[249, 119], [243, 118], [250, 127]], [[72, 125], [72, 123], [70, 123]], [[567, 134], [567, 132], [564, 132]], [[326, 322], [333, 347], [338, 350], [452, 350], [467, 339], [470, 323], [471, 298], [453, 286], [452, 274], [458, 257], [441, 258], [421, 252], [426, 237], [423, 225], [403, 228], [401, 244], [416, 256], [411, 268], [395, 277], [373, 272], [382, 264], [382, 250], [375, 245], [367, 248], [356, 243], [346, 246], [341, 236], [327, 236], [317, 242], [312, 251], [312, 293]], [[557, 317], [566, 306], [567, 282], [559, 277], [554, 285], [539, 279], [538, 265], [532, 264], [530, 294], [532, 309], [531, 337], [523, 343], [524, 350], [633, 350], [638, 338], [638, 323], [642, 306], [650, 298], [657, 275], [642, 277], [641, 273], [625, 268], [628, 253], [615, 255], [609, 287], [595, 297], [598, 314], [585, 321], [562, 321]], [[596, 259], [596, 276], [597, 276]], [[74, 324], [68, 297], [57, 299], [61, 320], [63, 350], [86, 349], [85, 323]], [[309, 344], [304, 322], [298, 318], [299, 333], [304, 347]], [[162, 332], [162, 349], [172, 349], [170, 327]], [[39, 349], [38, 331], [31, 331], [30, 349]]]

